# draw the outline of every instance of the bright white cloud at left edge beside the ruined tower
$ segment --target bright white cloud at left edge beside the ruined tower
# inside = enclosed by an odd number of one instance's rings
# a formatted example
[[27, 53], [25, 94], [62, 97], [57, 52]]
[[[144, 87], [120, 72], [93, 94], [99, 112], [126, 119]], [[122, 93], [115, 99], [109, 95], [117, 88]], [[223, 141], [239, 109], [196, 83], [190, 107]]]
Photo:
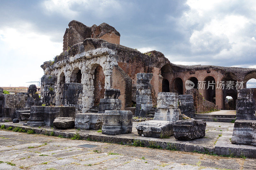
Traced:
[[62, 43], [37, 33], [35, 26], [21, 22], [0, 27], [0, 86], [26, 86], [43, 75], [40, 65], [62, 51]]

